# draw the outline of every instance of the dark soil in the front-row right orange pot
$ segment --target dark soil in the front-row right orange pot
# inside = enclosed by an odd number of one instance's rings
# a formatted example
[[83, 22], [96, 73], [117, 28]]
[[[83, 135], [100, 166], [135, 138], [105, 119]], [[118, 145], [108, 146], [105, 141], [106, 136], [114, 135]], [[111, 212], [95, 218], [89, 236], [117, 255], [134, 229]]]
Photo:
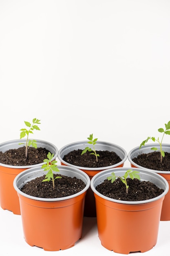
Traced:
[[155, 198], [163, 193], [163, 189], [159, 189], [155, 184], [149, 181], [140, 181], [138, 179], [127, 178], [129, 186], [126, 193], [126, 186], [117, 178], [113, 183], [110, 180], [104, 180], [96, 186], [96, 190], [108, 198], [123, 201], [143, 201]]

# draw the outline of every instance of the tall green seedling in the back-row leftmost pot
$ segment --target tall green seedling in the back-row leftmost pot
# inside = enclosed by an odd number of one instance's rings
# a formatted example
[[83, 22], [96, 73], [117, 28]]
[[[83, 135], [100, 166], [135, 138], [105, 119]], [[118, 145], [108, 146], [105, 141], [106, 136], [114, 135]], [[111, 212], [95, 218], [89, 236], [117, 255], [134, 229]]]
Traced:
[[[22, 128], [20, 129], [21, 133], [20, 133], [20, 139], [24, 138], [26, 136], [26, 144], [25, 144], [25, 156], [26, 158], [28, 157], [28, 146], [33, 146], [33, 148], [37, 148], [37, 141], [35, 139], [33, 140], [29, 140], [29, 134], [32, 133], [33, 134], [33, 130], [40, 130], [40, 128], [37, 126], [37, 124], [41, 124], [40, 123], [41, 120], [34, 118], [33, 119], [33, 124], [30, 124], [29, 122], [24, 121], [24, 123], [26, 124], [27, 127], [29, 127], [29, 129], [26, 128]], [[24, 143], [19, 143], [19, 144], [24, 144]]]

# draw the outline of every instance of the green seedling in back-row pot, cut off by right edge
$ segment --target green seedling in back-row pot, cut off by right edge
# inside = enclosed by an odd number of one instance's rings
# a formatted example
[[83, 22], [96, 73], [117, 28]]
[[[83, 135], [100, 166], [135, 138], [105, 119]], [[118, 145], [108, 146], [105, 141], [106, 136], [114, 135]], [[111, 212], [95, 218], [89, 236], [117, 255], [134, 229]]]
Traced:
[[158, 139], [155, 139], [155, 137], [148, 137], [146, 140], [142, 141], [142, 143], [140, 144], [139, 149], [141, 148], [141, 146], [144, 146], [145, 143], [148, 142], [148, 140], [150, 140], [150, 139], [152, 139], [152, 141], [154, 141], [154, 142], [157, 141], [159, 143], [159, 145], [160, 145], [160, 150], [158, 148], [156, 148], [156, 147], [153, 147], [151, 149], [152, 150], [159, 150], [160, 151], [160, 153], [161, 153], [160, 159], [161, 159], [161, 163], [162, 163], [162, 157], [165, 156], [165, 152], [162, 150], [162, 141], [163, 141], [163, 137], [164, 137], [165, 134], [170, 135], [170, 121], [168, 122], [168, 124], [165, 124], [165, 130], [163, 128], [159, 128], [158, 131], [159, 132], [163, 132], [161, 140], [159, 140], [159, 137], [158, 137]]

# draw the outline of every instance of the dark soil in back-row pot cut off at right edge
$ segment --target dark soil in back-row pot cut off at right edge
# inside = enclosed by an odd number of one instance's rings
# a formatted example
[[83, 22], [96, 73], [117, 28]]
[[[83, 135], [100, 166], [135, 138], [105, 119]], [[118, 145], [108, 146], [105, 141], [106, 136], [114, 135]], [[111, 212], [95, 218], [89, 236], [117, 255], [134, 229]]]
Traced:
[[140, 166], [157, 171], [170, 171], [170, 153], [165, 152], [165, 156], [162, 157], [159, 151], [153, 151], [151, 153], [142, 153], [134, 157], [132, 161]]

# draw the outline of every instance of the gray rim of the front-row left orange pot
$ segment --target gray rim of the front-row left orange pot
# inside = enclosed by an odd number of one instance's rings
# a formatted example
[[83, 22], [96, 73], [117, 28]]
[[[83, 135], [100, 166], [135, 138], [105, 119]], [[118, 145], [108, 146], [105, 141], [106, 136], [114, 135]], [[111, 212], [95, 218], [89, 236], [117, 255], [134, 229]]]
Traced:
[[74, 194], [74, 195], [69, 195], [63, 198], [38, 198], [38, 197], [34, 197], [31, 195], [27, 195], [26, 193], [23, 193], [22, 191], [20, 191], [20, 188], [28, 181], [33, 180], [35, 177], [31, 177], [31, 175], [35, 175], [35, 173], [40, 173], [40, 175], [36, 176], [36, 177], [40, 177], [42, 175], [46, 175], [46, 171], [43, 171], [43, 169], [41, 168], [41, 166], [38, 167], [33, 167], [33, 168], [29, 168], [25, 171], [22, 171], [21, 173], [19, 173], [13, 180], [13, 187], [15, 189], [15, 191], [17, 193], [19, 193], [20, 195], [32, 199], [32, 200], [36, 200], [36, 201], [43, 201], [43, 202], [57, 202], [57, 201], [63, 201], [63, 200], [68, 200], [71, 198], [75, 198], [78, 195], [81, 195], [82, 193], [84, 193], [85, 191], [87, 191], [87, 189], [90, 187], [90, 177], [84, 173], [84, 171], [79, 170], [78, 168], [74, 168], [74, 167], [70, 167], [70, 166], [61, 166], [61, 165], [57, 165], [58, 169], [61, 171], [59, 172], [59, 174], [63, 174], [67, 175], [67, 172], [71, 172], [74, 175], [72, 175], [71, 177], [78, 177], [79, 179], [82, 179], [85, 184], [86, 187], [84, 189], [82, 189], [81, 191], [79, 191], [78, 193]]

